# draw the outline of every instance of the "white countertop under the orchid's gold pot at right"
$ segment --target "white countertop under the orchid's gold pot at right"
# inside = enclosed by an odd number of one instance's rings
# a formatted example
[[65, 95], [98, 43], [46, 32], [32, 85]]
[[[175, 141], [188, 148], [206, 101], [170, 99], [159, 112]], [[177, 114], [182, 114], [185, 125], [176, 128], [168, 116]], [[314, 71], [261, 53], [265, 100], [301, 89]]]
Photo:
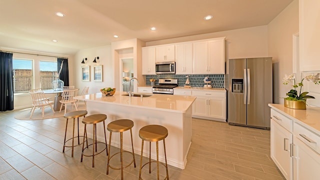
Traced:
[[310, 130], [320, 134], [320, 108], [307, 106], [303, 109], [284, 107], [283, 104], [269, 104], [269, 107], [282, 111], [292, 117], [293, 121], [303, 123]]

